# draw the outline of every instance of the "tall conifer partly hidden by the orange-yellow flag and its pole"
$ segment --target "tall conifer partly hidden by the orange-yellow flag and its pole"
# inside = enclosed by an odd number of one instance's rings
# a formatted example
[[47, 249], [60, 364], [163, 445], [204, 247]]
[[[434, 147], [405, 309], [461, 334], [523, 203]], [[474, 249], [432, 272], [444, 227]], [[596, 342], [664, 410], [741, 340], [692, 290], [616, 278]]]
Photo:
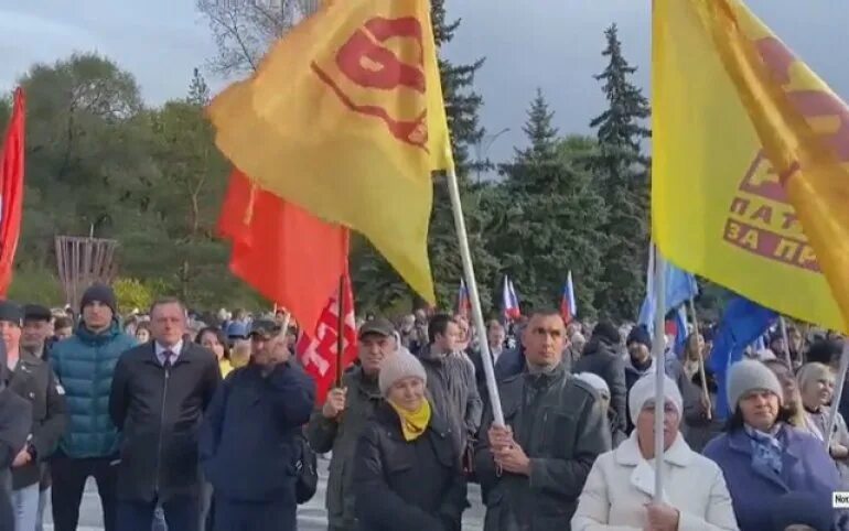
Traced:
[[[447, 22], [444, 0], [431, 1], [431, 20], [437, 47], [451, 42], [460, 21]], [[466, 228], [470, 232], [469, 245], [480, 286], [481, 302], [484, 307], [487, 307], [491, 301], [491, 291], [487, 286], [494, 282], [493, 271], [497, 266], [495, 259], [483, 245], [483, 227], [487, 224], [488, 218], [480, 205], [482, 194], [488, 189], [488, 186], [473, 185], [468, 177], [470, 172], [469, 147], [479, 142], [484, 134], [477, 117], [483, 100], [473, 90], [475, 73], [482, 65], [483, 59], [468, 65], [455, 65], [443, 58], [439, 61], [448, 124], [451, 130], [451, 148], [454, 154]], [[444, 175], [434, 175], [433, 178], [433, 210], [428, 235], [428, 253], [433, 272], [438, 305], [450, 310], [456, 297], [458, 283], [462, 277], [462, 264]], [[395, 305], [399, 302], [401, 293], [407, 291], [397, 273], [367, 243], [355, 252], [352, 266], [358, 291], [379, 290], [378, 293], [385, 294], [380, 300], [373, 297], [365, 301], [367, 304], [378, 307]], [[407, 292], [409, 293], [409, 291]], [[359, 303], [361, 300], [358, 299], [357, 302]]]

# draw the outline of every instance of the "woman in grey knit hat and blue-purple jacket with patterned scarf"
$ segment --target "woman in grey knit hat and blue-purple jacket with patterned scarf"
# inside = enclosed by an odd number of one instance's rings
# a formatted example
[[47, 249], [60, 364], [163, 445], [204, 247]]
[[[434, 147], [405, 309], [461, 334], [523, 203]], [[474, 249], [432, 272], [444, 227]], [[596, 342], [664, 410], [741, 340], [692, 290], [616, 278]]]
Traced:
[[773, 511], [789, 492], [830, 500], [839, 490], [837, 468], [820, 441], [788, 423], [775, 373], [761, 361], [739, 361], [726, 388], [733, 414], [705, 455], [726, 476], [740, 530], [774, 529]]

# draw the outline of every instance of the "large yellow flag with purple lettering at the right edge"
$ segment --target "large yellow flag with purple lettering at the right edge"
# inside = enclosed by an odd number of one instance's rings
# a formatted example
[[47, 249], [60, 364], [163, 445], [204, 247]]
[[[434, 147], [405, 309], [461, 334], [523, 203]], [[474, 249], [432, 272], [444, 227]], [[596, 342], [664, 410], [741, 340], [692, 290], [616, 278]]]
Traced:
[[677, 266], [849, 330], [849, 110], [740, 0], [655, 0], [653, 230]]

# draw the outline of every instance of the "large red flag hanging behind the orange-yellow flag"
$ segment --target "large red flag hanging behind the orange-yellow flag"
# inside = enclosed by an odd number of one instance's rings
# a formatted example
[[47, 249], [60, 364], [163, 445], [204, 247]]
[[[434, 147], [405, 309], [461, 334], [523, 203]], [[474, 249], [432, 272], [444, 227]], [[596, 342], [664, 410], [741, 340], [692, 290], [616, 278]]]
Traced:
[[347, 264], [348, 231], [230, 175], [218, 231], [233, 242], [230, 270], [312, 329]]

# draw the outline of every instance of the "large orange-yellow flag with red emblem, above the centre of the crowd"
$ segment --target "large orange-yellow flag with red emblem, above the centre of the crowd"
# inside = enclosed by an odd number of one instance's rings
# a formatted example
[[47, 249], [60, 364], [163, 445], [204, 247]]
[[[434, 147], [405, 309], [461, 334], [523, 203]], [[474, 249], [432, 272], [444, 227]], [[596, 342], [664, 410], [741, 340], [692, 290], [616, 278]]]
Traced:
[[208, 113], [239, 170], [365, 235], [433, 303], [431, 171], [453, 161], [428, 0], [326, 0]]

